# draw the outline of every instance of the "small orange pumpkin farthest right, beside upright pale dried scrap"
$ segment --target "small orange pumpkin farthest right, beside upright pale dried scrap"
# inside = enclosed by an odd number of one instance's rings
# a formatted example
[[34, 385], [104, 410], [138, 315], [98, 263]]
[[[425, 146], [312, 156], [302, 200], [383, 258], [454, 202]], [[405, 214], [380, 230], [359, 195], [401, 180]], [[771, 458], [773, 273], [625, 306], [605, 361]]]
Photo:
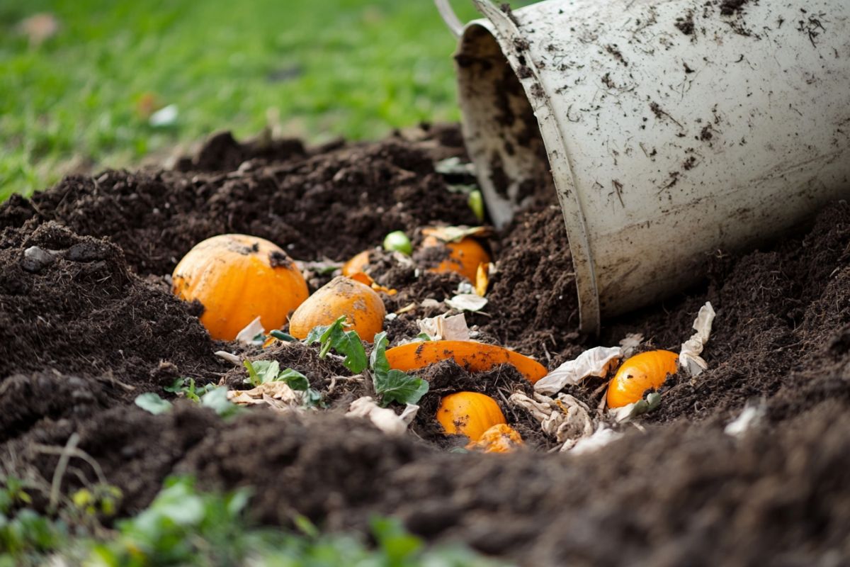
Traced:
[[649, 350], [626, 359], [608, 385], [609, 407], [622, 407], [643, 399], [649, 389], [660, 388], [678, 370], [679, 355], [669, 350]]

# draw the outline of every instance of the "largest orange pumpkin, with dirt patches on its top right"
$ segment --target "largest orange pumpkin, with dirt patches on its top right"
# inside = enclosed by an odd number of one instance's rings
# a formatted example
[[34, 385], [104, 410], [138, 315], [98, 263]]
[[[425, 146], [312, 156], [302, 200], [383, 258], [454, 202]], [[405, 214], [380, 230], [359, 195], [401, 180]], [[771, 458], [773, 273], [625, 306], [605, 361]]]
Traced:
[[210, 337], [231, 341], [257, 317], [278, 329], [307, 298], [307, 282], [292, 258], [272, 242], [248, 235], [218, 235], [200, 242], [174, 268], [172, 290], [204, 306]]

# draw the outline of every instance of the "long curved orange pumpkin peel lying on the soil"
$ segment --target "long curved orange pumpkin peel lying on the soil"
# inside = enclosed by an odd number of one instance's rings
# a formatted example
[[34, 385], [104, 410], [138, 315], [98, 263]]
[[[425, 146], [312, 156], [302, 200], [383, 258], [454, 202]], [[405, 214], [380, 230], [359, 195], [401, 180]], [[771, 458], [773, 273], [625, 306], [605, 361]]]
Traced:
[[513, 350], [495, 344], [473, 341], [425, 341], [407, 343], [388, 349], [390, 368], [402, 371], [419, 370], [440, 360], [452, 359], [467, 371], [484, 372], [501, 364], [516, 368], [530, 383], [547, 375], [546, 367]]

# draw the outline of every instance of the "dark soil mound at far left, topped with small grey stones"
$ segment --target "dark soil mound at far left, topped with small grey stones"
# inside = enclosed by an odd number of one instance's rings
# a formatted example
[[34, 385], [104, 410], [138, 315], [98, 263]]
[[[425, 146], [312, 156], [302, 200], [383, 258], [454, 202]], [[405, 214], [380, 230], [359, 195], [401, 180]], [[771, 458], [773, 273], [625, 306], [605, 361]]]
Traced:
[[2, 377], [55, 370], [144, 389], [161, 360], [195, 377], [221, 369], [194, 306], [133, 275], [110, 241], [54, 222], [7, 229], [0, 265]]

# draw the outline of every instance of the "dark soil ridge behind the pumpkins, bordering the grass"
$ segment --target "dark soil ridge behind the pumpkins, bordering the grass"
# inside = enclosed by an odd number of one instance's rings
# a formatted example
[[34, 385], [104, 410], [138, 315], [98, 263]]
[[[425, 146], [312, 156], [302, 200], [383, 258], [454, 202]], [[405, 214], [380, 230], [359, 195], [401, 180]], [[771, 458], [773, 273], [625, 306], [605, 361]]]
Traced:
[[108, 237], [139, 275], [170, 274], [196, 243], [227, 232], [273, 241], [297, 259], [345, 260], [392, 230], [476, 223], [466, 196], [448, 192], [434, 172], [436, 157], [463, 155], [456, 131], [306, 154], [292, 142], [238, 145], [220, 134], [181, 162], [201, 171], [69, 177], [31, 200], [13, 196], [0, 207], [0, 230], [57, 220], [79, 235]]

